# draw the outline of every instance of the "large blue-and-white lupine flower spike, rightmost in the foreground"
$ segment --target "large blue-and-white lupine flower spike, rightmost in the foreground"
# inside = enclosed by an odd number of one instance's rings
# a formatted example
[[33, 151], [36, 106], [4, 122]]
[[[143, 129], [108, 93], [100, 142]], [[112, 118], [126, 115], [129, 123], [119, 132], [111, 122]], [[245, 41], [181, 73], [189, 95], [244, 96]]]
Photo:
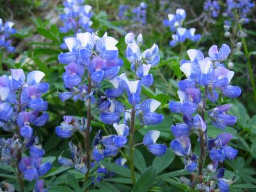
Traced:
[[[186, 79], [178, 83], [180, 102], [172, 101], [169, 105], [170, 111], [181, 113], [184, 121], [172, 125], [171, 129], [175, 140], [171, 142], [170, 146], [177, 156], [184, 157], [185, 169], [188, 172], [199, 170], [201, 177], [204, 177], [202, 173], [204, 154], [209, 154], [209, 158], [212, 160], [212, 163], [207, 166], [210, 173], [218, 172], [218, 164], [223, 163], [226, 158], [231, 160], [237, 156], [237, 150], [227, 145], [228, 141], [232, 139], [232, 134], [223, 132], [215, 139], [209, 138], [207, 136], [208, 120], [205, 120], [207, 100], [212, 103], [218, 102], [220, 93], [229, 98], [236, 98], [241, 94], [239, 87], [230, 85], [234, 72], [225, 68], [225, 65], [221, 63], [227, 59], [228, 54], [230, 54], [230, 49], [225, 44], [221, 46], [220, 50], [216, 45], [212, 45], [209, 49], [209, 57], [206, 58], [198, 50], [188, 50], [190, 60], [180, 61], [180, 70], [186, 76]], [[204, 90], [203, 94], [201, 90]], [[221, 129], [234, 125], [236, 116], [227, 114], [230, 107], [230, 104], [223, 104], [213, 109], [207, 109], [212, 125]], [[191, 151], [189, 140], [191, 134], [196, 134], [200, 141], [200, 157]], [[212, 180], [213, 184], [214, 180], [218, 180], [218, 188], [225, 191], [224, 189], [228, 189], [230, 182], [222, 177], [223, 174], [221, 177], [212, 178]], [[203, 183], [202, 179], [202, 182], [198, 184], [198, 189], [211, 189], [214, 186], [215, 184], [212, 186], [211, 180]]]

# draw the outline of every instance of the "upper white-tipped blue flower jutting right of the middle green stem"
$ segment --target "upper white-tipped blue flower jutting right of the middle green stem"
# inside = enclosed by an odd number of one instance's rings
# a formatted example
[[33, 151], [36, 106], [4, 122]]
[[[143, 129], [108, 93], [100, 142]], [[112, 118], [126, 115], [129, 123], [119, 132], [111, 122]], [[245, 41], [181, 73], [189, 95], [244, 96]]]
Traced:
[[142, 112], [142, 122], [145, 125], [159, 124], [163, 121], [164, 116], [159, 113], [155, 113], [156, 109], [161, 105], [154, 99], [145, 99], [140, 104], [140, 110]]

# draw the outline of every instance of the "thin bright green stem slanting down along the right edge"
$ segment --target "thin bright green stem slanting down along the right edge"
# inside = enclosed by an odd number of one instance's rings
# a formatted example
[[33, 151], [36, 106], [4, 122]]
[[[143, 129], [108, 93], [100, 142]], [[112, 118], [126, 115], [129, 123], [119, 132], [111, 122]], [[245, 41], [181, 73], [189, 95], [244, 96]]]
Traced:
[[[243, 29], [242, 29], [241, 24], [238, 24], [238, 26], [239, 26], [239, 30], [242, 31]], [[243, 43], [244, 54], [245, 54], [246, 60], [247, 60], [247, 68], [248, 68], [248, 72], [249, 72], [249, 76], [250, 76], [250, 81], [251, 81], [251, 84], [252, 84], [252, 91], [253, 91], [254, 99], [256, 101], [256, 88], [255, 88], [255, 81], [254, 81], [254, 78], [253, 78], [253, 71], [252, 71], [252, 65], [251, 65], [251, 60], [250, 60], [250, 54], [249, 54], [248, 49], [247, 49], [245, 38], [242, 36], [241, 39], [242, 39], [242, 43]]]

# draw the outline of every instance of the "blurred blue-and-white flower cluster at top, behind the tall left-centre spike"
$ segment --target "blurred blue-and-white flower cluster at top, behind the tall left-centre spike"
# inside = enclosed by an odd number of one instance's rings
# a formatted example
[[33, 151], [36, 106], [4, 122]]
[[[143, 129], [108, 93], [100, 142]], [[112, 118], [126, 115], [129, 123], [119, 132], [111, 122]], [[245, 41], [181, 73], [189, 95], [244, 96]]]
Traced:
[[92, 32], [92, 6], [84, 5], [84, 0], [65, 0], [63, 2], [64, 13], [60, 15], [63, 26], [60, 27], [61, 33], [82, 33], [84, 31]]

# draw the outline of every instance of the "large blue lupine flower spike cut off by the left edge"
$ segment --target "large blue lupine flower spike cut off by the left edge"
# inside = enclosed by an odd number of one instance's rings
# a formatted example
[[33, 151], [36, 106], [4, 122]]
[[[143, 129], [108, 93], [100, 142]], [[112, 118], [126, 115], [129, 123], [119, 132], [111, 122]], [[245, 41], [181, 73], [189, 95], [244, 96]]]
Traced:
[[[12, 138], [0, 138], [1, 163], [19, 164], [19, 170], [26, 180], [38, 180], [51, 169], [51, 163], [41, 164], [44, 150], [33, 135], [31, 125], [42, 127], [49, 115], [47, 101], [42, 94], [49, 90], [48, 83], [41, 83], [45, 74], [38, 70], [29, 72], [27, 77], [22, 69], [12, 69], [11, 76], [0, 77], [0, 127], [13, 132]], [[30, 156], [21, 155], [29, 149]], [[43, 180], [35, 188], [44, 187]], [[40, 188], [41, 188], [40, 187]]]

